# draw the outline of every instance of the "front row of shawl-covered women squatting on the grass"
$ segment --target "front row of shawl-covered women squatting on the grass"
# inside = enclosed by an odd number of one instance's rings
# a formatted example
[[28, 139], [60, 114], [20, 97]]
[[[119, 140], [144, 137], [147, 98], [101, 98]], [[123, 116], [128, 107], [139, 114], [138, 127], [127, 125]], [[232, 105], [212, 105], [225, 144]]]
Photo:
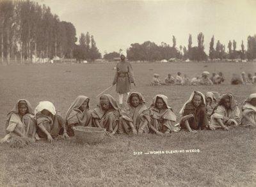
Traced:
[[179, 130], [196, 132], [197, 130], [228, 130], [236, 126], [256, 126], [256, 93], [244, 101], [242, 114], [237, 101], [230, 93], [220, 98], [209, 92], [202, 94], [193, 91], [180, 110], [181, 119], [168, 105], [168, 98], [157, 94], [150, 107], [145, 104], [141, 93], [133, 92], [127, 98], [126, 107], [118, 107], [115, 99], [104, 94], [100, 96], [97, 107], [89, 108], [90, 98], [78, 96], [68, 108], [65, 119], [60, 116], [50, 101], [40, 101], [31, 108], [29, 101], [19, 100], [8, 113], [6, 136], [1, 142], [8, 142], [12, 137], [29, 137], [31, 140], [74, 136], [74, 126], [95, 126], [105, 128], [108, 135], [127, 133], [139, 135], [156, 133], [170, 135]]

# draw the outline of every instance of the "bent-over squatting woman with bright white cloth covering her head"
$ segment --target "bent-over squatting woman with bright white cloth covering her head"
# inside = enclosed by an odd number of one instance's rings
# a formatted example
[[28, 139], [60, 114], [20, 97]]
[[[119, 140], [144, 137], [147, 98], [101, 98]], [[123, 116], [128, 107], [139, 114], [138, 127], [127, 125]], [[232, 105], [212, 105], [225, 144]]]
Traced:
[[52, 142], [57, 138], [63, 129], [63, 137], [68, 138], [65, 120], [56, 113], [54, 105], [50, 101], [40, 101], [35, 108], [37, 133], [41, 138], [47, 138]]

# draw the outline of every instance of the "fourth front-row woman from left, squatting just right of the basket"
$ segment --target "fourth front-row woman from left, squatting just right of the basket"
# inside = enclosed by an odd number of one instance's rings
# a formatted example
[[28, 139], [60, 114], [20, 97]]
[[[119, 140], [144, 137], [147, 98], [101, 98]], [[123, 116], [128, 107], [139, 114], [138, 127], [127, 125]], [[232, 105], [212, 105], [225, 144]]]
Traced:
[[92, 111], [93, 124], [106, 128], [108, 135], [115, 135], [119, 126], [120, 109], [110, 94], [100, 96], [99, 104]]

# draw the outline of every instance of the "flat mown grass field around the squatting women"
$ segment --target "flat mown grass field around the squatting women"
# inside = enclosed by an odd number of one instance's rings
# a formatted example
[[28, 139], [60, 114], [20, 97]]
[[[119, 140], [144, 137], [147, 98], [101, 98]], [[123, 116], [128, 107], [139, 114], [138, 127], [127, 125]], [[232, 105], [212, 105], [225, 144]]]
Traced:
[[[28, 99], [33, 107], [42, 100], [52, 101], [63, 116], [81, 94], [89, 96], [90, 107], [95, 107], [95, 96], [113, 81], [114, 66], [114, 63], [0, 66], [0, 136], [4, 135], [7, 112], [20, 98]], [[254, 73], [253, 63], [132, 66], [137, 84], [133, 90], [141, 92], [148, 104], [154, 95], [165, 94], [178, 118], [182, 104], [193, 90], [231, 92], [239, 105], [256, 92], [253, 85], [229, 84], [233, 72]], [[220, 86], [148, 86], [153, 73], [164, 79], [168, 73], [175, 75], [181, 71], [191, 78], [202, 71], [220, 70], [226, 77]], [[114, 88], [109, 93], [118, 98]], [[239, 127], [228, 132], [181, 131], [171, 137], [116, 135], [95, 146], [77, 144], [74, 138], [53, 144], [41, 140], [25, 149], [1, 144], [0, 186], [255, 186], [255, 133], [255, 128]], [[196, 152], [186, 153], [190, 149]], [[171, 152], [175, 150], [185, 153]], [[149, 151], [164, 151], [164, 154], [144, 154]]]

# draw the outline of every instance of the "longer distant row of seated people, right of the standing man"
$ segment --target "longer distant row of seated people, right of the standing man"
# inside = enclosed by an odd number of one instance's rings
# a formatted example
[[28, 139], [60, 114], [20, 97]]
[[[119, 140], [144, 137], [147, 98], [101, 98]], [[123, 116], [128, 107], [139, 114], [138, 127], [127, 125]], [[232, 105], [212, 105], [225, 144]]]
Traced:
[[154, 73], [153, 80], [151, 82], [152, 86], [159, 86], [159, 85], [212, 85], [212, 84], [221, 84], [224, 82], [225, 77], [222, 72], [219, 73], [212, 73], [210, 77], [209, 71], [204, 71], [201, 76], [194, 77], [193, 79], [189, 79], [186, 74], [182, 76], [180, 72], [177, 73], [176, 77], [174, 78], [171, 73], [164, 79], [164, 82], [161, 81], [159, 78], [159, 74]]

